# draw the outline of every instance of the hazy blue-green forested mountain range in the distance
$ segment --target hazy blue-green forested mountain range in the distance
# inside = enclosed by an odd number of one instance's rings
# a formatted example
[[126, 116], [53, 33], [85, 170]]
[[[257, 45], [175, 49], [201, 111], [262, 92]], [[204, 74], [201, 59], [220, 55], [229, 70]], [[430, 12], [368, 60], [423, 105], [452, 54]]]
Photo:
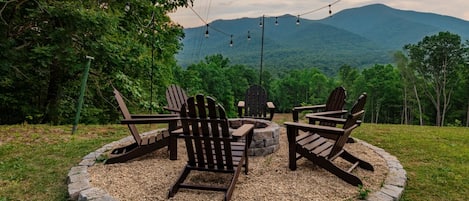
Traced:
[[392, 63], [393, 52], [440, 31], [469, 39], [468, 21], [383, 4], [343, 10], [322, 20], [300, 19], [299, 25], [292, 15], [266, 17], [263, 47], [261, 20], [216, 20], [208, 27], [208, 38], [204, 36], [206, 26], [185, 29], [184, 48], [177, 55], [179, 64], [187, 66], [208, 55], [223, 54], [233, 64], [257, 68], [263, 51], [264, 68], [318, 67], [333, 75], [345, 64], [367, 67]]

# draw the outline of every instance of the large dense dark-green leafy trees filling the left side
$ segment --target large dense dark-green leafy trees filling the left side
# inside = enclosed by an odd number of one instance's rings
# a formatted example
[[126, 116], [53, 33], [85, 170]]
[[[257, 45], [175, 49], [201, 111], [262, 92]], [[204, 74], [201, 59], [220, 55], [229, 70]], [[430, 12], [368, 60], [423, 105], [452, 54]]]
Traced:
[[5, 93], [0, 94], [0, 123], [70, 122], [86, 55], [96, 59], [84, 115], [109, 120], [106, 108], [113, 107], [103, 105], [103, 94], [110, 93], [110, 83], [139, 88], [130, 92], [143, 100], [147, 95], [140, 92], [150, 86], [149, 75], [159, 76], [162, 84], [170, 80], [183, 32], [167, 13], [188, 3], [1, 1], [0, 90]]

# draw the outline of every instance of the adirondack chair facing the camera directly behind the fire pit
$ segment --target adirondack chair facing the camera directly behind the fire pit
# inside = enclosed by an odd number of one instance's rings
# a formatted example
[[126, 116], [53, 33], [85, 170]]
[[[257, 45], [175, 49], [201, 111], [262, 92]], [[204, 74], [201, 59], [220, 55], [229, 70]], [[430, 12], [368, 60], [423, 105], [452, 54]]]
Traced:
[[[267, 110], [269, 111], [268, 114]], [[274, 103], [267, 101], [267, 93], [259, 85], [249, 87], [244, 101], [238, 102], [238, 117], [240, 118], [256, 118], [272, 121], [274, 113]]]

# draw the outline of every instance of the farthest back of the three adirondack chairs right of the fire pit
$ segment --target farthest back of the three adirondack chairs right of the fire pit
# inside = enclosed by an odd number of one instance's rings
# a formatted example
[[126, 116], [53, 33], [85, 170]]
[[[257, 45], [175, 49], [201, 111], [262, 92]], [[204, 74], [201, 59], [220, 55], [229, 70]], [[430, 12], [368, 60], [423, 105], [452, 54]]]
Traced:
[[[299, 121], [299, 113], [303, 111], [311, 111], [312, 114], [317, 116], [329, 116], [329, 117], [340, 117], [340, 114], [337, 114], [336, 111], [343, 111], [345, 105], [345, 98], [347, 97], [347, 93], [345, 88], [343, 87], [336, 87], [332, 92], [329, 94], [327, 102], [321, 105], [309, 105], [309, 106], [299, 106], [294, 107], [292, 109], [292, 116], [293, 121]], [[334, 111], [330, 113], [330, 111]], [[310, 122], [313, 123], [313, 122]], [[320, 122], [320, 125], [323, 126], [335, 126], [333, 122]]]

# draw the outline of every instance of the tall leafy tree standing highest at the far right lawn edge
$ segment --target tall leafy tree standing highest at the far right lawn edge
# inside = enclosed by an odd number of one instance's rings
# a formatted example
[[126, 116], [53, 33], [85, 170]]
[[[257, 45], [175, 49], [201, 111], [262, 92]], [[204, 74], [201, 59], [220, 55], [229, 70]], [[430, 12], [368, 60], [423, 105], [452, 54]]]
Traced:
[[451, 96], [461, 80], [460, 70], [464, 65], [461, 38], [440, 32], [404, 48], [411, 59], [411, 68], [422, 79], [424, 93], [434, 106], [435, 124], [443, 126]]

